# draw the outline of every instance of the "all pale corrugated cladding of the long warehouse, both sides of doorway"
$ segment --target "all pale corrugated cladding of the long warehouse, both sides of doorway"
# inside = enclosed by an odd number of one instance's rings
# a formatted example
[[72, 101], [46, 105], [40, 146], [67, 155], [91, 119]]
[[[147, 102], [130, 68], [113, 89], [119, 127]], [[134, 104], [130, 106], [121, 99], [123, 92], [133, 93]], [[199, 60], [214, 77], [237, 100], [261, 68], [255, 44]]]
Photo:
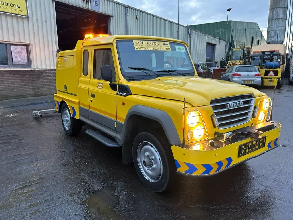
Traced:
[[[83, 0], [56, 0], [88, 9]], [[110, 15], [111, 34], [126, 33], [124, 4], [110, 0], [100, 0], [100, 12]], [[28, 0], [29, 18], [0, 14], [0, 41], [30, 44], [33, 68], [55, 68], [56, 42], [55, 9], [52, 0]], [[154, 16], [150, 13], [128, 7], [128, 34], [151, 35], [177, 38], [177, 23]], [[139, 19], [137, 19], [137, 16]], [[194, 62], [205, 62], [206, 43], [216, 45], [215, 60], [224, 57], [225, 42], [219, 39], [179, 26], [179, 39], [191, 44], [191, 56]]]

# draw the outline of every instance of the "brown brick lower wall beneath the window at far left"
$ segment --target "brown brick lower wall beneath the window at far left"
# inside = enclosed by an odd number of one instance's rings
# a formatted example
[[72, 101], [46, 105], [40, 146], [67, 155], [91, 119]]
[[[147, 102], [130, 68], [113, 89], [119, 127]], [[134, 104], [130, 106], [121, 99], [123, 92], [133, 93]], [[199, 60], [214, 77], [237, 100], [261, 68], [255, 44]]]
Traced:
[[56, 70], [0, 70], [0, 100], [56, 93]]

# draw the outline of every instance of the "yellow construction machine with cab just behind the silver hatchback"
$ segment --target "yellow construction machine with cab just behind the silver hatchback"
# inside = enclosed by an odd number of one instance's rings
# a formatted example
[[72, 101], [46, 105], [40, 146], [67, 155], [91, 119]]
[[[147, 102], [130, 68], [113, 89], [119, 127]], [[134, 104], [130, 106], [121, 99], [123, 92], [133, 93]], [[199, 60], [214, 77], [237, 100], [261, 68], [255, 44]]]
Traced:
[[229, 53], [229, 62], [226, 66], [226, 69], [228, 69], [231, 66], [246, 65], [246, 63], [249, 63], [250, 52], [251, 52], [250, 47], [231, 48]]

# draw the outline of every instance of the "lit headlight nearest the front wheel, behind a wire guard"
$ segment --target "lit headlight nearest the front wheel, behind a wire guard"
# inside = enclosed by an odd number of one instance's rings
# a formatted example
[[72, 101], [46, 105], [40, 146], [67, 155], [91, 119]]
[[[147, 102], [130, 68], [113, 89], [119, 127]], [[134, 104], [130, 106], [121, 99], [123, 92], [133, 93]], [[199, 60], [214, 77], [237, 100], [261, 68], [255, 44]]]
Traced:
[[195, 142], [207, 139], [208, 133], [203, 121], [202, 115], [199, 111], [194, 110], [188, 114], [188, 141]]

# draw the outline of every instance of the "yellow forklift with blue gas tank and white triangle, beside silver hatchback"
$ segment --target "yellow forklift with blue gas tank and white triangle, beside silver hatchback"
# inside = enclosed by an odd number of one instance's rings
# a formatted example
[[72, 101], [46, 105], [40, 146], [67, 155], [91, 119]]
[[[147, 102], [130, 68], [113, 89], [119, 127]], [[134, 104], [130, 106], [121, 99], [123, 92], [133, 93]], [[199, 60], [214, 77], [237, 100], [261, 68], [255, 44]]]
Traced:
[[285, 56], [279, 50], [253, 51], [251, 54], [250, 65], [258, 67], [262, 86], [275, 86], [277, 89], [282, 87], [283, 64]]

